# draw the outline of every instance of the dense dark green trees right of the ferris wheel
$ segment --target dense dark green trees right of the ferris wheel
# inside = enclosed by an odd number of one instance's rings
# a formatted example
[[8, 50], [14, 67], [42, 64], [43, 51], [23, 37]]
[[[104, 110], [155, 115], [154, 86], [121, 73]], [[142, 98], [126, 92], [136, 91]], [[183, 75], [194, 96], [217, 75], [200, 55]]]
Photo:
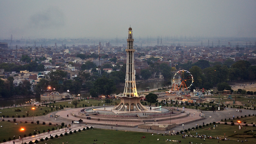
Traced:
[[194, 87], [210, 89], [219, 83], [228, 81], [256, 80], [256, 66], [249, 61], [226, 60], [223, 64], [219, 62], [210, 63], [206, 60], [199, 60], [192, 64], [190, 61], [181, 64], [179, 68], [188, 69], [194, 76]]

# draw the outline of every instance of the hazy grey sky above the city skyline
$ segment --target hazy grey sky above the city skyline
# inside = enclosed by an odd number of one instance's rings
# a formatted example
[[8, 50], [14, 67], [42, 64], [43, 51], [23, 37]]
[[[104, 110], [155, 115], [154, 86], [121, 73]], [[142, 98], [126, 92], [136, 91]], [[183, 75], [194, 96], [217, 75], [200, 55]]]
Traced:
[[0, 0], [0, 39], [256, 37], [256, 0]]

